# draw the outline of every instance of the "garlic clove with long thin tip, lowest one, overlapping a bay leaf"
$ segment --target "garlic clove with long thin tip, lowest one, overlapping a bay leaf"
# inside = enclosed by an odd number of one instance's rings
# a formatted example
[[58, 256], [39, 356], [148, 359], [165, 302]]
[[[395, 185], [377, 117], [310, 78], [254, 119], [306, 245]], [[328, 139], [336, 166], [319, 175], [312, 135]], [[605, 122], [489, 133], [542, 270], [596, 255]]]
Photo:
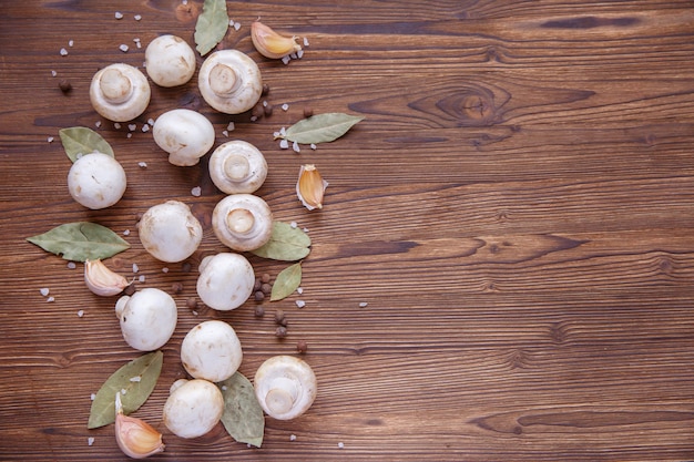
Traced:
[[141, 419], [125, 415], [121, 393], [115, 393], [115, 441], [125, 455], [144, 459], [164, 451], [162, 434]]

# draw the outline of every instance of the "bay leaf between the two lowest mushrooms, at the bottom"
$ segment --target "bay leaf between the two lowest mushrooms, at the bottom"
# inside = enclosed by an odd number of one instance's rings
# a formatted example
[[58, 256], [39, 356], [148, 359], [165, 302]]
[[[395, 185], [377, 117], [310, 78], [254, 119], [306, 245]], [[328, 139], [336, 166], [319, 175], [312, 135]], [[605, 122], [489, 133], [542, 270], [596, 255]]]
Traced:
[[224, 397], [222, 423], [227, 433], [239, 443], [261, 448], [265, 417], [251, 381], [236, 371], [231, 378], [218, 382], [217, 387]]

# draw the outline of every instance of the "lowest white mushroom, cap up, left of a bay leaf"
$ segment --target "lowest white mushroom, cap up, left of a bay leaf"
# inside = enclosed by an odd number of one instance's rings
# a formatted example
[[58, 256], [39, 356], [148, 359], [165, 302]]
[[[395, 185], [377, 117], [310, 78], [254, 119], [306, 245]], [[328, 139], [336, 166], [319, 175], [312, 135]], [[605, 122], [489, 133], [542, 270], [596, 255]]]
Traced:
[[180, 438], [197, 438], [222, 419], [224, 397], [214, 383], [193, 379], [178, 384], [164, 403], [164, 424]]

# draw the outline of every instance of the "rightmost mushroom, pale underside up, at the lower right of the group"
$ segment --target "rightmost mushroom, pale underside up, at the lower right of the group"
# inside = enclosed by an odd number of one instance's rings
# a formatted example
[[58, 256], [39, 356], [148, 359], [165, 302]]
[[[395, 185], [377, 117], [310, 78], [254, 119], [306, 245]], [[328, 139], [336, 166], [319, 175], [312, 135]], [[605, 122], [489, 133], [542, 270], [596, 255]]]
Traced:
[[261, 407], [269, 417], [296, 419], [316, 399], [316, 374], [306, 361], [279, 355], [261, 365], [255, 372], [254, 389]]

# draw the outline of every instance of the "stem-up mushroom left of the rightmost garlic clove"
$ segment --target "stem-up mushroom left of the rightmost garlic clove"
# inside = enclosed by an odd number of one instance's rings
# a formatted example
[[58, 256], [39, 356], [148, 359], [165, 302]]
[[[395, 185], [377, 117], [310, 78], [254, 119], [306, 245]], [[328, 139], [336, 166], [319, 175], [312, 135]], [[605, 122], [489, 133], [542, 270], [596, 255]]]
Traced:
[[235, 140], [210, 156], [210, 177], [226, 194], [254, 193], [267, 177], [267, 162], [253, 144]]

